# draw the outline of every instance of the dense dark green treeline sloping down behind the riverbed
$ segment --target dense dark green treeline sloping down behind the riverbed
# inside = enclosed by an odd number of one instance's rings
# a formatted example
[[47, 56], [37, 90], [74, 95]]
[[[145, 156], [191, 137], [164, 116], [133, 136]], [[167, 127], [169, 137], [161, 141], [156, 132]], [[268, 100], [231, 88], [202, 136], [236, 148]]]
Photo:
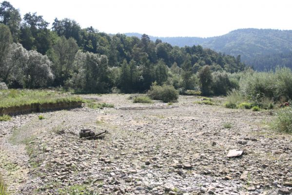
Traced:
[[172, 46], [145, 34], [109, 35], [70, 19], [56, 18], [49, 29], [42, 16], [29, 12], [21, 18], [8, 1], [1, 3], [0, 23], [0, 82], [12, 88], [132, 93], [156, 82], [182, 93], [226, 94], [236, 85], [228, 73], [246, 69], [240, 56], [200, 45]]

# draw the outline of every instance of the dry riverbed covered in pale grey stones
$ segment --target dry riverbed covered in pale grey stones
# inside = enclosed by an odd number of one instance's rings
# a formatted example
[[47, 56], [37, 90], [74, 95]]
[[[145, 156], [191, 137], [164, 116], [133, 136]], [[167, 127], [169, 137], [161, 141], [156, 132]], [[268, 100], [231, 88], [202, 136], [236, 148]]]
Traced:
[[[115, 108], [1, 121], [0, 173], [12, 194], [291, 194], [292, 136], [267, 128], [270, 112], [129, 97], [84, 95]], [[82, 128], [107, 133], [80, 139]], [[228, 158], [231, 149], [244, 153]]]

